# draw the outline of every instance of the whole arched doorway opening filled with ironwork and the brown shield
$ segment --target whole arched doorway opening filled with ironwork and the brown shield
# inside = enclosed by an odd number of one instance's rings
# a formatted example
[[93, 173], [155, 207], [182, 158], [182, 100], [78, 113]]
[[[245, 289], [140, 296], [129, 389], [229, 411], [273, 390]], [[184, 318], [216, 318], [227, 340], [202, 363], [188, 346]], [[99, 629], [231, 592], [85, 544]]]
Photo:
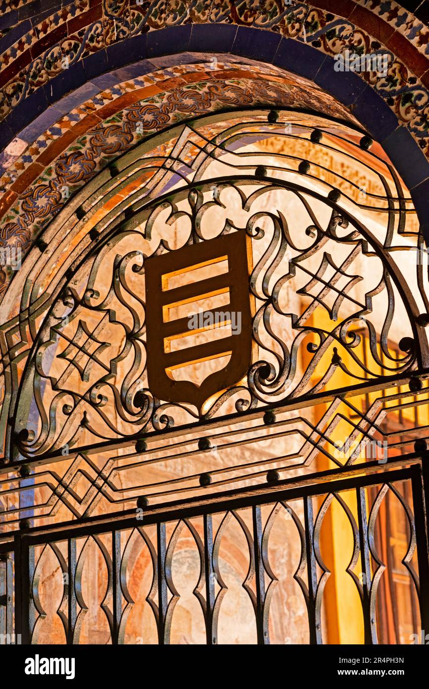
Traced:
[[[404, 643], [427, 615], [423, 154], [396, 169], [356, 108], [283, 70], [193, 64], [207, 84], [180, 97], [171, 74], [158, 100], [147, 83], [103, 96], [105, 121], [57, 148], [15, 218], [37, 234], [4, 297], [22, 633], [85, 642], [98, 608], [100, 643], [231, 643], [234, 615], [235, 643]], [[63, 598], [44, 610], [54, 571]], [[176, 588], [189, 572], [199, 613]], [[140, 603], [155, 615], [138, 635]]]

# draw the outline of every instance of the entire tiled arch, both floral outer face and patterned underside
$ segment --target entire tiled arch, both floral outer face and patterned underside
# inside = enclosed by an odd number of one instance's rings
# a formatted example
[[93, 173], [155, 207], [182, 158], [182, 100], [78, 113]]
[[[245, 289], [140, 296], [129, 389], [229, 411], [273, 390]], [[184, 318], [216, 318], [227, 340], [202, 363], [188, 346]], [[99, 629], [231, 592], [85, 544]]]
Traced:
[[[2, 243], [14, 237], [26, 251], [61, 208], [56, 184], [85, 183], [133, 145], [132, 107], [153, 110], [156, 123], [148, 124], [145, 114], [144, 137], [155, 126], [167, 126], [166, 113], [160, 117], [165, 98], [172, 121], [189, 116], [186, 108], [180, 114], [180, 89], [193, 103], [199, 99], [199, 107], [205, 102], [204, 112], [225, 107], [228, 100], [249, 103], [249, 98], [253, 104], [279, 99], [290, 104], [280, 85], [271, 93], [273, 100], [269, 96], [268, 80], [284, 70], [320, 85], [346, 106], [343, 118], [348, 111], [381, 143], [422, 218], [429, 188], [428, 3], [404, 4], [409, 7], [371, 0], [291, 6], [280, 0], [0, 3], [0, 136], [6, 146], [0, 161]], [[388, 75], [337, 72], [333, 79], [333, 57], [346, 48], [388, 54]], [[241, 56], [242, 63], [254, 59], [274, 65], [258, 74], [267, 88], [249, 96], [256, 65], [248, 74], [242, 65], [236, 74], [233, 65], [225, 65], [228, 74], [213, 79], [204, 61], [216, 52]], [[162, 55], [176, 57], [168, 59], [170, 73], [161, 77], [151, 61]], [[187, 65], [197, 59], [198, 65]], [[180, 63], [185, 72], [178, 74]], [[160, 79], [167, 82], [163, 89]], [[218, 89], [214, 98], [209, 81]], [[164, 101], [162, 90], [170, 91]]]

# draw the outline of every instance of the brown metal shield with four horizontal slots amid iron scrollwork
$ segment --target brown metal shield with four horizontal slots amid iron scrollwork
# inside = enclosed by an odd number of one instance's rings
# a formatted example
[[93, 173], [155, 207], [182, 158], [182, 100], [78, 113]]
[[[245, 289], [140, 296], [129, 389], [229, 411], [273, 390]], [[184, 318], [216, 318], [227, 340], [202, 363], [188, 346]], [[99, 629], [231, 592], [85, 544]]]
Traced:
[[[244, 230], [145, 260], [147, 376], [158, 399], [189, 402], [201, 412], [207, 400], [246, 375], [252, 360], [251, 266], [251, 238]], [[216, 298], [220, 307], [213, 307]], [[217, 329], [227, 336], [219, 337]], [[205, 341], [198, 344], [201, 333]], [[174, 379], [177, 369], [195, 371], [194, 364], [220, 357], [229, 359], [226, 365], [200, 384]]]

